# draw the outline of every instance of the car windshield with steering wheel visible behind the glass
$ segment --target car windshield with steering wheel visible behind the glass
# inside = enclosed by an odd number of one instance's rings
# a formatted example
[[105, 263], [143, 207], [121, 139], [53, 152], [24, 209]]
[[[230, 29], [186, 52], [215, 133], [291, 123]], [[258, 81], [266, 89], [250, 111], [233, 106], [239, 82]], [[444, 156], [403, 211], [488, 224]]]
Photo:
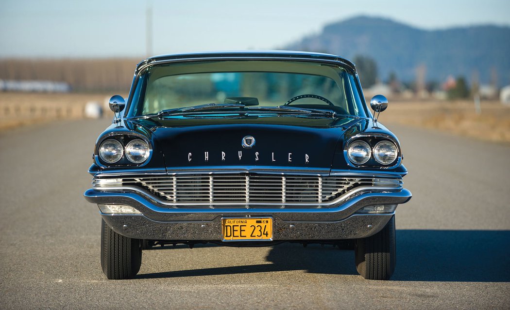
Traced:
[[288, 106], [365, 116], [354, 78], [345, 69], [290, 61], [154, 66], [139, 79], [132, 103], [130, 116], [208, 104], [253, 109]]

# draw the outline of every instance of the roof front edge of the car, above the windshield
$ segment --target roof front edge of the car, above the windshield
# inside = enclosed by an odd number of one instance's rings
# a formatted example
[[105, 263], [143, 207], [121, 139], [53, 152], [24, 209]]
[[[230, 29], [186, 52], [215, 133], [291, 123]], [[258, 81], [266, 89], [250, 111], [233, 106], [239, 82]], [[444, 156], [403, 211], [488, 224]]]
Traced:
[[[340, 63], [344, 66], [349, 67], [355, 71], [354, 64], [345, 58], [342, 58], [333, 54], [315, 53], [315, 52], [302, 52], [302, 51], [284, 51], [284, 50], [244, 50], [244, 51], [209, 51], [209, 52], [193, 52], [193, 53], [182, 53], [182, 54], [166, 54], [159, 56], [152, 56], [141, 61], [137, 66], [137, 71], [142, 67], [146, 68], [149, 64], [164, 63], [165, 61], [175, 60], [191, 60], [204, 58], [272, 58], [277, 57], [279, 59], [285, 58], [299, 58], [299, 59], [310, 59], [310, 60], [322, 60], [331, 63]], [[150, 65], [149, 65], [150, 66]]]

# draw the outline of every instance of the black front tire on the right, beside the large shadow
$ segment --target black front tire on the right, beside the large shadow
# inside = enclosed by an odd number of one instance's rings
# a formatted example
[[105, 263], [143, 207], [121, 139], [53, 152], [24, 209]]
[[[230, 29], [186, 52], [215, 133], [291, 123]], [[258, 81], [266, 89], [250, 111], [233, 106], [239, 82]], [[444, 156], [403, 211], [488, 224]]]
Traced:
[[373, 236], [356, 239], [356, 269], [369, 280], [389, 280], [395, 271], [395, 215]]

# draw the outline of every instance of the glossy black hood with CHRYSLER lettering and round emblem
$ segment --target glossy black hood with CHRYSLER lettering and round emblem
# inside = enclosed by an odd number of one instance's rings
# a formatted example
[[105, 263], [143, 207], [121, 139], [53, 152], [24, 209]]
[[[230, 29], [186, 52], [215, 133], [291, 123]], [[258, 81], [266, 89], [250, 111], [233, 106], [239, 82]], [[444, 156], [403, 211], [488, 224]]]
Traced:
[[[349, 116], [169, 116], [134, 122], [149, 129], [167, 168], [274, 166], [330, 168]], [[248, 137], [243, 146], [243, 140]], [[247, 146], [246, 144], [249, 144]]]

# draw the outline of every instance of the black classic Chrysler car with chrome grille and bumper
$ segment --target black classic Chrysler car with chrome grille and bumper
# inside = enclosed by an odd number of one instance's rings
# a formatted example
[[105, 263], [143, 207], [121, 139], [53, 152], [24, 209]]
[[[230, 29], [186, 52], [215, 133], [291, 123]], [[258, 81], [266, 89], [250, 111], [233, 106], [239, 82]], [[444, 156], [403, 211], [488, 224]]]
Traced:
[[[370, 105], [377, 116], [384, 96]], [[245, 51], [150, 57], [96, 141], [101, 266], [134, 277], [142, 250], [213, 242], [354, 249], [367, 279], [395, 268], [395, 209], [411, 199], [396, 136], [335, 55]], [[375, 114], [374, 113], [374, 114]]]

